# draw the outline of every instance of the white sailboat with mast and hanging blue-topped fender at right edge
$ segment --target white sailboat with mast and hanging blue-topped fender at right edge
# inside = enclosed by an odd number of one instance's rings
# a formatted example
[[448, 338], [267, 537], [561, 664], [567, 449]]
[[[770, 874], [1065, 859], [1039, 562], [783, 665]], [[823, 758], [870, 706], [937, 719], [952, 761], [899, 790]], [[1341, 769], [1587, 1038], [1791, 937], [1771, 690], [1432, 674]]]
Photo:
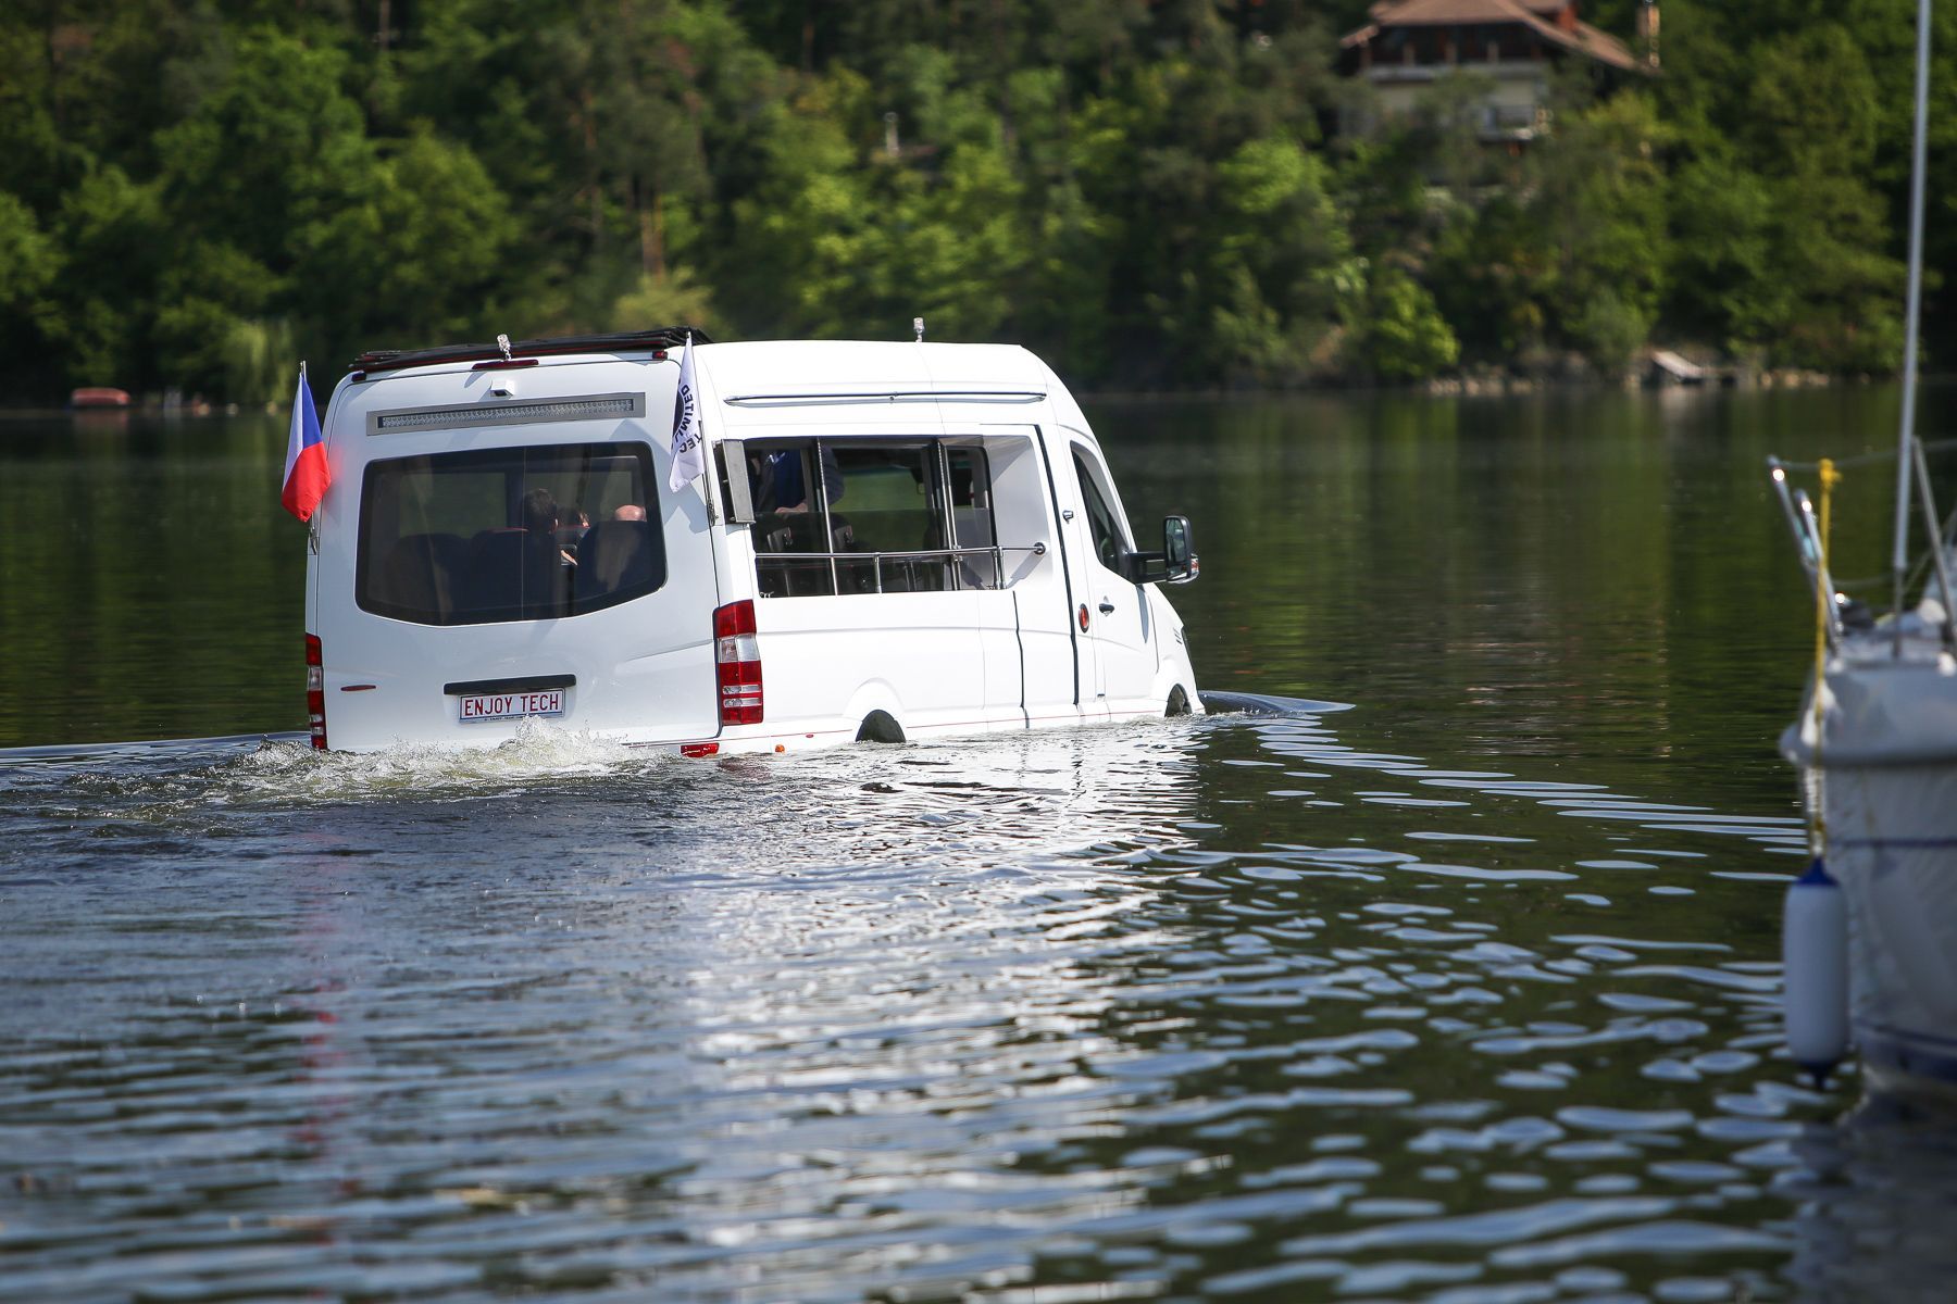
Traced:
[[[1957, 602], [1951, 530], [1937, 514], [1916, 436], [1928, 90], [1930, 0], [1918, 0], [1894, 602], [1887, 616], [1871, 620], [1836, 592], [1828, 567], [1836, 465], [1810, 467], [1820, 473], [1816, 508], [1789, 485], [1797, 463], [1769, 463], [1816, 594], [1814, 674], [1800, 717], [1781, 735], [1781, 753], [1802, 768], [1814, 843], [1814, 864], [1787, 893], [1789, 1050], [1824, 1075], [1853, 1044], [1873, 1087], [1910, 1095], [1957, 1093]], [[1906, 606], [1912, 518], [1922, 520], [1930, 565], [1916, 606]]]

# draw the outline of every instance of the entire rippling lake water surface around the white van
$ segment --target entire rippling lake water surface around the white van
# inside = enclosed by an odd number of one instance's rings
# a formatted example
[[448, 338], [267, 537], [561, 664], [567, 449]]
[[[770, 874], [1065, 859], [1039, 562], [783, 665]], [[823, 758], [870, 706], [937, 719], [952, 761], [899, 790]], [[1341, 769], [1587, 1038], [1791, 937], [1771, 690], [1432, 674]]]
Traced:
[[1761, 461], [1894, 413], [1090, 405], [1309, 702], [720, 764], [262, 739], [282, 422], [0, 422], [0, 1298], [1943, 1300], [1957, 1128], [1779, 1052]]

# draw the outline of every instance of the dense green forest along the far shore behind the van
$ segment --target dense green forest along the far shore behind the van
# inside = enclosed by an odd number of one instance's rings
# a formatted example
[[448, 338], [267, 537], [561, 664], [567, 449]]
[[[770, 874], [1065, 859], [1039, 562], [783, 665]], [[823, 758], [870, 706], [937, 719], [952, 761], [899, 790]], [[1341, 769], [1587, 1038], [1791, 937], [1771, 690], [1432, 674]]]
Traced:
[[[1638, 0], [1581, 4], [1630, 39]], [[1663, 0], [1489, 147], [1341, 131], [1366, 0], [14, 0], [0, 399], [290, 393], [366, 348], [1008, 340], [1123, 389], [1892, 371], [1912, 0]], [[1926, 325], [1957, 268], [1937, 18]], [[321, 393], [323, 397], [323, 393]]]

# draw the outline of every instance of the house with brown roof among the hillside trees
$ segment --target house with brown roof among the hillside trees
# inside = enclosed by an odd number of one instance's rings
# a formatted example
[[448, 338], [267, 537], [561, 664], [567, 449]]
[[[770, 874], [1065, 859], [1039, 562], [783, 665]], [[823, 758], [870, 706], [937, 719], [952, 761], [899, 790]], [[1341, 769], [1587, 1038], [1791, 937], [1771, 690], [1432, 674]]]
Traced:
[[1577, 18], [1575, 0], [1378, 0], [1372, 22], [1339, 41], [1341, 70], [1374, 88], [1366, 111], [1348, 113], [1344, 131], [1409, 111], [1450, 72], [1474, 70], [1493, 82], [1479, 106], [1479, 133], [1521, 149], [1548, 127], [1548, 72], [1579, 66], [1620, 84], [1658, 72], [1658, 4], [1638, 8], [1638, 51]]

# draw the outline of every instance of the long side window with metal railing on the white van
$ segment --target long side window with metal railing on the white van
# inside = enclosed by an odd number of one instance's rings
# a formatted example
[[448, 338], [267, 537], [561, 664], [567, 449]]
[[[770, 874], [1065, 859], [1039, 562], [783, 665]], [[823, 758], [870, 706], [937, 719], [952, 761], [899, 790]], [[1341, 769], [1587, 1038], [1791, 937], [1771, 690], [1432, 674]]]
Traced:
[[984, 450], [926, 438], [746, 448], [763, 598], [998, 587]]

